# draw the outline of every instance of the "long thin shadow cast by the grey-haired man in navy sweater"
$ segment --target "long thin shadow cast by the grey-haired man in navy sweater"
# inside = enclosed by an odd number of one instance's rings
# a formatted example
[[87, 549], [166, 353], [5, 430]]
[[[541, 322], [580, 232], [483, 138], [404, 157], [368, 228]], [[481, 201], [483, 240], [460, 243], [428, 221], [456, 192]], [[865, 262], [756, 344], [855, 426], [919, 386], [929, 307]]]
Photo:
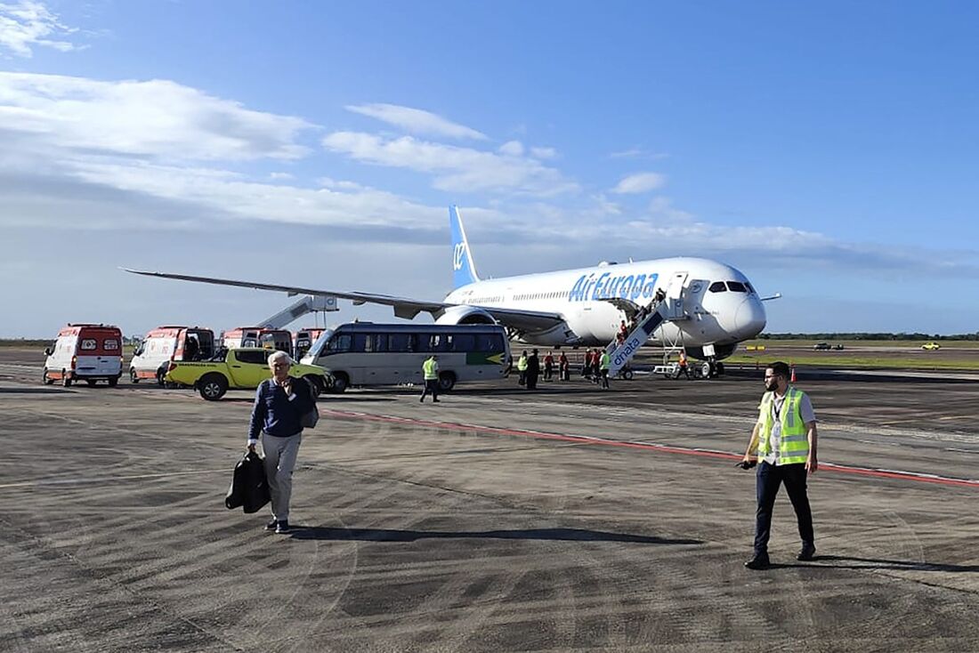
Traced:
[[608, 541], [634, 544], [703, 544], [700, 539], [668, 539], [634, 536], [627, 533], [605, 533], [583, 529], [525, 529], [517, 531], [396, 531], [393, 529], [335, 529], [294, 526], [295, 539], [336, 539], [358, 541], [412, 542], [418, 539], [487, 538], [552, 539], [564, 541]]

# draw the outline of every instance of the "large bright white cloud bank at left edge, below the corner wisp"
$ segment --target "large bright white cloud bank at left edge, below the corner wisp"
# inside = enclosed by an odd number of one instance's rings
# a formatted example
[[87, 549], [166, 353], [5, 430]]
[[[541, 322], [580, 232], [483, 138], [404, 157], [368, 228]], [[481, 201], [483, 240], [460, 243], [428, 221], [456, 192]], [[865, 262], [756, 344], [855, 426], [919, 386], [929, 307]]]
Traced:
[[77, 152], [169, 161], [297, 159], [313, 125], [172, 81], [0, 71], [0, 135]]

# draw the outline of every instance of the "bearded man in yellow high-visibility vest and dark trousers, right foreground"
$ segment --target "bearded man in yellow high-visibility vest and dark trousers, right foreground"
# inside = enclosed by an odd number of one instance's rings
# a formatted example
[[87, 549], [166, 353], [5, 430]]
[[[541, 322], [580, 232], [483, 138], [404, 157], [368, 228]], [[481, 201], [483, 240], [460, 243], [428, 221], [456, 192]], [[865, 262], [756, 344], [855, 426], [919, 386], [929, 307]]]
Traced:
[[[741, 466], [758, 462], [755, 512], [755, 553], [744, 563], [748, 569], [769, 567], [771, 509], [778, 487], [785, 484], [799, 523], [802, 549], [796, 560], [812, 560], [816, 554], [813, 513], [806, 493], [806, 475], [816, 474], [816, 413], [806, 393], [789, 385], [789, 366], [779, 361], [765, 370], [765, 395], [759, 404], [758, 422]], [[755, 453], [757, 451], [757, 454]]]

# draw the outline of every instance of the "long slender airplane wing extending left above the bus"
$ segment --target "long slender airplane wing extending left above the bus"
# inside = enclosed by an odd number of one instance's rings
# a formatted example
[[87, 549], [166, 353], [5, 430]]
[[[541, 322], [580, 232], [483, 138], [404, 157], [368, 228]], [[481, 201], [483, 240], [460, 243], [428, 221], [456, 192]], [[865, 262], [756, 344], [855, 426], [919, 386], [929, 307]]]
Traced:
[[[373, 293], [349, 293], [334, 290], [323, 290], [322, 288], [302, 288], [300, 286], [281, 286], [278, 284], [258, 283], [256, 281], [238, 281], [236, 279], [219, 279], [216, 277], [199, 277], [189, 274], [171, 274], [169, 272], [150, 272], [147, 270], [131, 270], [123, 267], [122, 270], [132, 274], [142, 274], [148, 277], [161, 277], [163, 279], [177, 279], [179, 281], [195, 281], [197, 283], [210, 283], [218, 286], [236, 286], [238, 288], [255, 288], [256, 290], [271, 290], [280, 293], [293, 295], [327, 295], [337, 297], [342, 300], [350, 300], [354, 305], [362, 303], [380, 303], [392, 306], [395, 315], [404, 319], [412, 319], [420, 312], [431, 313], [433, 317], [439, 317], [455, 303], [443, 302], [418, 302], [391, 295], [376, 295]], [[471, 305], [471, 304], [467, 304]], [[536, 310], [517, 310], [513, 308], [495, 308], [492, 306], [473, 306], [481, 308], [492, 315], [493, 319], [506, 326], [517, 329], [518, 331], [542, 331], [550, 329], [564, 322], [564, 317], [559, 313], [548, 313]]]

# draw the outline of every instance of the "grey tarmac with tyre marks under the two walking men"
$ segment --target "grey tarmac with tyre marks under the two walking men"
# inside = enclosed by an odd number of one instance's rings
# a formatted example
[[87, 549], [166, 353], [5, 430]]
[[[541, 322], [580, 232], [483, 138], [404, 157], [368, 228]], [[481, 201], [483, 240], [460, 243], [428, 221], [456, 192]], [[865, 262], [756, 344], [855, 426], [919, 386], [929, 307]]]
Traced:
[[979, 650], [979, 383], [812, 374], [817, 558], [749, 572], [761, 379], [324, 396], [291, 536], [225, 510], [251, 393], [0, 351], [0, 649]]

